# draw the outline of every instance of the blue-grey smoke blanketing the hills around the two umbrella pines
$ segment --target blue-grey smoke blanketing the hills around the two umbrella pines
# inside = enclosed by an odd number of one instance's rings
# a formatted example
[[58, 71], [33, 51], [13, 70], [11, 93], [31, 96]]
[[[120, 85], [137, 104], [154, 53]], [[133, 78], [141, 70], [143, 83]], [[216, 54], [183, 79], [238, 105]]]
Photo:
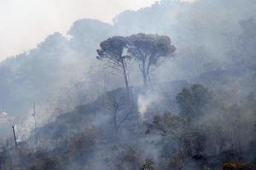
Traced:
[[[0, 78], [8, 81], [0, 82], [0, 105], [2, 109], [7, 106], [7, 111], [13, 111], [16, 115], [13, 122], [17, 125], [18, 139], [26, 143], [26, 139], [35, 132], [33, 130], [38, 128], [41, 144], [45, 142], [44, 146], [49, 146], [56, 155], [64, 155], [60, 156], [60, 160], [63, 158], [62, 163], [70, 164], [70, 169], [103, 169], [104, 166], [121, 169], [115, 167], [116, 164], [139, 167], [146, 158], [163, 163], [160, 162], [161, 156], [175, 154], [179, 149], [179, 139], [176, 139], [178, 135], [181, 135], [180, 138], [188, 138], [188, 142], [195, 142], [193, 144], [198, 147], [201, 145], [196, 143], [197, 137], [200, 138], [201, 133], [207, 135], [207, 156], [229, 150], [231, 142], [234, 146], [249, 148], [254, 137], [255, 115], [253, 109], [245, 109], [247, 105], [242, 104], [244, 98], [241, 97], [249, 91], [255, 91], [255, 73], [245, 74], [236, 68], [236, 65], [232, 65], [232, 57], [236, 47], [233, 45], [242, 32], [239, 21], [255, 15], [252, 10], [255, 2], [182, 2], [162, 0], [148, 8], [125, 11], [115, 18], [112, 26], [97, 20], [78, 20], [67, 32], [68, 37], [55, 33], [29, 53], [1, 63], [3, 67], [0, 69], [4, 69], [0, 71], [4, 72]], [[238, 10], [237, 7], [241, 8]], [[112, 70], [104, 62], [96, 60], [96, 48], [102, 40], [138, 32], [167, 35], [177, 47], [175, 58], [165, 59], [151, 71], [150, 87], [142, 86], [137, 61], [132, 60], [127, 64], [130, 85], [135, 91], [138, 89], [135, 96], [139, 119], [137, 111], [136, 114], [126, 114], [128, 101], [114, 102], [113, 108], [105, 108], [109, 101], [102, 101], [105, 99], [102, 97], [104, 93], [121, 95], [124, 81], [121, 71]], [[176, 120], [179, 116], [176, 96], [182, 88], [189, 86], [187, 82], [200, 82], [209, 90], [217, 89], [214, 97], [221, 105], [207, 108], [205, 115], [196, 121], [198, 127], [189, 129], [195, 132], [179, 134], [188, 129], [181, 125], [183, 117]], [[115, 88], [118, 90], [112, 91]], [[187, 95], [188, 100], [183, 99], [184, 106], [190, 104], [190, 94]], [[200, 95], [197, 92], [193, 101], [200, 98]], [[36, 127], [32, 117], [32, 102], [37, 105]], [[241, 109], [238, 108], [240, 110], [231, 107], [236, 102], [242, 104]], [[174, 111], [173, 115], [166, 115], [169, 110]], [[236, 114], [236, 111], [240, 113]], [[0, 122], [6, 122], [7, 116], [9, 114], [0, 114]], [[172, 127], [176, 121], [177, 124]], [[164, 133], [172, 133], [168, 136], [170, 139], [163, 142], [163, 138], [155, 134], [145, 135], [147, 122], [159, 123], [156, 128], [166, 130]], [[165, 129], [169, 126], [170, 129]], [[136, 147], [127, 151], [127, 145], [130, 144]], [[197, 151], [197, 146], [193, 144], [191, 150]], [[190, 144], [187, 145], [190, 147]], [[219, 149], [222, 146], [223, 150]], [[60, 150], [64, 150], [65, 154]], [[171, 160], [167, 158], [164, 161]], [[176, 160], [181, 159], [177, 157]]]

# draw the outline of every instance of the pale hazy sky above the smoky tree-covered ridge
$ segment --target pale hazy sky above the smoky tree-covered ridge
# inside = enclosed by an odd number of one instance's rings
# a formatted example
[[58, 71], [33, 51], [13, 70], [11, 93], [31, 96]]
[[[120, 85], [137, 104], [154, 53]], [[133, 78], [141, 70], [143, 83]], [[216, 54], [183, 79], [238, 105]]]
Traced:
[[125, 9], [155, 0], [0, 0], [0, 60], [36, 47], [54, 31], [65, 33], [74, 20], [111, 22]]

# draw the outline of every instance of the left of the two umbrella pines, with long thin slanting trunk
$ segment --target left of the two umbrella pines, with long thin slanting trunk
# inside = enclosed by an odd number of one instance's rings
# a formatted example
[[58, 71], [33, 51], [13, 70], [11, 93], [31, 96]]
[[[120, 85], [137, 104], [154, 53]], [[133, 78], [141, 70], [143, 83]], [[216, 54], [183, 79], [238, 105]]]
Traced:
[[127, 76], [127, 65], [126, 62], [130, 57], [125, 54], [127, 48], [127, 42], [125, 37], [110, 37], [108, 40], [101, 42], [100, 49], [96, 52], [97, 59], [107, 59], [108, 66], [119, 71], [119, 68], [123, 71], [125, 79], [125, 87], [128, 99], [130, 99], [130, 90]]

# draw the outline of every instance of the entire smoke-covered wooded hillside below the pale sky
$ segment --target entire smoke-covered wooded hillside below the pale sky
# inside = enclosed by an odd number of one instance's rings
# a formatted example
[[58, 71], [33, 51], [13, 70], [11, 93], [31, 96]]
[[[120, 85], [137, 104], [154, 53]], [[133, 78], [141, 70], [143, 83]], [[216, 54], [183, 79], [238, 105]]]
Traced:
[[2, 170], [255, 170], [256, 2], [161, 0], [0, 62]]

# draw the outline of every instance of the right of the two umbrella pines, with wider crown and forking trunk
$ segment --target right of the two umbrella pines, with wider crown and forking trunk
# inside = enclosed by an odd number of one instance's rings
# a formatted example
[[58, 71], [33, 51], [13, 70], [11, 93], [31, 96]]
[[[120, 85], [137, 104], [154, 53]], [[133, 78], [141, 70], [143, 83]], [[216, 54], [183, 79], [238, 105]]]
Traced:
[[172, 45], [170, 37], [157, 34], [139, 33], [126, 37], [128, 54], [139, 62], [139, 69], [143, 73], [143, 83], [150, 82], [150, 68], [160, 64], [161, 58], [174, 55], [176, 48]]

